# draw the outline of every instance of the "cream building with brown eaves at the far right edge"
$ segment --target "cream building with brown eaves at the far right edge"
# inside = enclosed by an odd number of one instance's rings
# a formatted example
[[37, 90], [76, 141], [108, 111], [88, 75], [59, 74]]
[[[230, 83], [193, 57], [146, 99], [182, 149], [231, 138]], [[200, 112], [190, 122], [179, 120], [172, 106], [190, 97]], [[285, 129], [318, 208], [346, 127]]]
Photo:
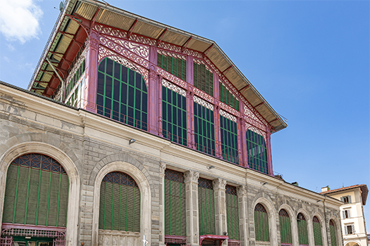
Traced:
[[368, 237], [364, 208], [369, 190], [365, 184], [348, 186], [330, 190], [328, 187], [321, 188], [321, 194], [344, 202], [340, 206], [342, 219], [343, 243], [345, 246], [366, 246]]

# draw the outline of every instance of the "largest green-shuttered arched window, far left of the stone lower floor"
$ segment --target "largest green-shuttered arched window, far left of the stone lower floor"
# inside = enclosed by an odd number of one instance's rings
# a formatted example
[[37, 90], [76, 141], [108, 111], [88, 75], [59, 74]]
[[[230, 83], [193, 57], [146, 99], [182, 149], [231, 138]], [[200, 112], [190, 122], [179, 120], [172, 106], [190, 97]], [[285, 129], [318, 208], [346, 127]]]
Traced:
[[66, 227], [69, 181], [53, 158], [27, 154], [6, 175], [3, 223]]

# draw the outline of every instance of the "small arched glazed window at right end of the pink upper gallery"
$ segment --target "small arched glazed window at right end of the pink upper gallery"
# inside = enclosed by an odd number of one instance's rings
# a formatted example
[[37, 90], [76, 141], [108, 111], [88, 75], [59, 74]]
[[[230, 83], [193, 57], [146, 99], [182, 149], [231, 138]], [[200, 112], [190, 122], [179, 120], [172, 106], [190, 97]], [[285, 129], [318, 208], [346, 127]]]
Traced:
[[264, 137], [250, 129], [247, 130], [246, 137], [249, 168], [269, 174], [267, 148]]

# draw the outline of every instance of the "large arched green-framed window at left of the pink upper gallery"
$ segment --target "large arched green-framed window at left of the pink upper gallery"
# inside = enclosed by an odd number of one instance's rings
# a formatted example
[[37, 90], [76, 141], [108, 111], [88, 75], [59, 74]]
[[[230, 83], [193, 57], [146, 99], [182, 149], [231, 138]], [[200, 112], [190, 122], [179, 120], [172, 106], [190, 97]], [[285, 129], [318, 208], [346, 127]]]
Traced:
[[99, 64], [97, 113], [147, 131], [147, 84], [140, 73], [104, 58]]

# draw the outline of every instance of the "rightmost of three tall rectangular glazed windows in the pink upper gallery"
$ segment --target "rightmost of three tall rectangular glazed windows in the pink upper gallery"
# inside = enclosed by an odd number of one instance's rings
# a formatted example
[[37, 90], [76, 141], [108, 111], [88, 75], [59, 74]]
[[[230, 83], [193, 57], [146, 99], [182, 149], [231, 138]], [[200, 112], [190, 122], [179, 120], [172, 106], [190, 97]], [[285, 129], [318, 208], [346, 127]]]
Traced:
[[236, 117], [220, 110], [221, 150], [223, 160], [239, 163], [238, 125]]

